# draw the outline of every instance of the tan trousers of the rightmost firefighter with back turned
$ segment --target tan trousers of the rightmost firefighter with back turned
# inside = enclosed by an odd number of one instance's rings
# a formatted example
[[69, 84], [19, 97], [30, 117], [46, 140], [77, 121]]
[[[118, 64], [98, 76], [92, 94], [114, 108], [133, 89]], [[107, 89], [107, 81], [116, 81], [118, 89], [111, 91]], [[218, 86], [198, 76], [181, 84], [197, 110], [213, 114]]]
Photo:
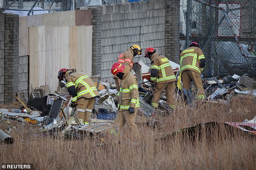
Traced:
[[202, 85], [201, 75], [198, 72], [193, 72], [191, 70], [184, 70], [181, 73], [181, 81], [183, 84], [183, 88], [185, 88], [186, 90], [189, 90], [189, 87], [191, 86], [191, 82], [193, 81], [195, 84], [195, 87], [199, 89], [197, 98], [201, 95], [203, 95], [203, 98], [204, 98], [204, 88]]

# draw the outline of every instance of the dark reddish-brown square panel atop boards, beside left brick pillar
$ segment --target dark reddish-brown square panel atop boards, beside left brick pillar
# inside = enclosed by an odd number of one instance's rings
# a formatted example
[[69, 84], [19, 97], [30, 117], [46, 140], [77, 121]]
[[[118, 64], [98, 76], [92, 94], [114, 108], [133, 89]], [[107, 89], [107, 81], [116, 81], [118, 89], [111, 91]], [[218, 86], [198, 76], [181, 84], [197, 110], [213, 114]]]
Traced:
[[76, 11], [76, 25], [89, 26], [91, 24], [92, 10], [75, 10]]

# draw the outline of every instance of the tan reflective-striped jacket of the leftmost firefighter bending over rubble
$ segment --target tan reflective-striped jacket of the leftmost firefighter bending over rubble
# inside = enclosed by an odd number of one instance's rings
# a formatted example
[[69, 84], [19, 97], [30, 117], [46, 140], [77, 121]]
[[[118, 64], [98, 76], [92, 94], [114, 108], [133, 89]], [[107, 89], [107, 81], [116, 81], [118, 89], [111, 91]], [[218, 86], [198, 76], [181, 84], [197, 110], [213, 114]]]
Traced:
[[94, 82], [86, 74], [73, 72], [69, 74], [67, 71], [65, 79], [67, 80], [67, 90], [72, 95], [72, 102], [76, 102], [79, 98], [92, 98], [99, 96], [99, 92]]

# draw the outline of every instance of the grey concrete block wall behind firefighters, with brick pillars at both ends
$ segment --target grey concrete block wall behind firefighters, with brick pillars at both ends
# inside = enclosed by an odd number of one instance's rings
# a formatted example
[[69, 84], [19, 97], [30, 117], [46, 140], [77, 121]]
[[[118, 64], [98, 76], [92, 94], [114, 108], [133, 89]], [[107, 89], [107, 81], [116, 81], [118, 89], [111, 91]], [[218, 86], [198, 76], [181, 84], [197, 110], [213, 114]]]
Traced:
[[154, 47], [157, 53], [178, 63], [179, 2], [151, 0], [94, 6], [92, 75], [101, 74], [102, 80], [113, 82], [111, 66], [133, 44], [143, 50], [143, 55], [134, 58], [135, 62], [142, 60], [150, 66], [150, 60], [143, 56], [147, 47]]

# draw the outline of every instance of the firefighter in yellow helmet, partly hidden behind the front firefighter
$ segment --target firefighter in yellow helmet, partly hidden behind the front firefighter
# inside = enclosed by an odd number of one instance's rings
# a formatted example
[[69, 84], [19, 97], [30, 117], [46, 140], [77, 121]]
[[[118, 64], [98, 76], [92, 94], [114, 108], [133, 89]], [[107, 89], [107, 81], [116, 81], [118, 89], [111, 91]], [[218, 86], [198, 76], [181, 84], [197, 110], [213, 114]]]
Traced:
[[[138, 45], [132, 45], [129, 49], [126, 49], [126, 51], [119, 55], [118, 63], [128, 66], [131, 72], [134, 64], [134, 57], [136, 55], [141, 55], [141, 47]], [[120, 79], [117, 76], [114, 76], [114, 80], [116, 90], [119, 91]]]

